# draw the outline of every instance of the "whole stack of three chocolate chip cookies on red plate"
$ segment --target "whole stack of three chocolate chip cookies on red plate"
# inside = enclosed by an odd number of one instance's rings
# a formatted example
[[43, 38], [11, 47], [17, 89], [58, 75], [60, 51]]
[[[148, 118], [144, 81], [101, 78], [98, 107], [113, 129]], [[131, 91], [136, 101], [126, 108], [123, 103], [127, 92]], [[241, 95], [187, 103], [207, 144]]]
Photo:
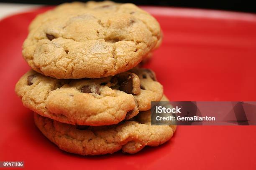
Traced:
[[36, 126], [80, 155], [168, 141], [175, 126], [151, 126], [151, 101], [166, 101], [154, 72], [137, 65], [161, 43], [159, 23], [133, 4], [73, 2], [38, 15], [23, 57], [33, 70], [15, 87]]

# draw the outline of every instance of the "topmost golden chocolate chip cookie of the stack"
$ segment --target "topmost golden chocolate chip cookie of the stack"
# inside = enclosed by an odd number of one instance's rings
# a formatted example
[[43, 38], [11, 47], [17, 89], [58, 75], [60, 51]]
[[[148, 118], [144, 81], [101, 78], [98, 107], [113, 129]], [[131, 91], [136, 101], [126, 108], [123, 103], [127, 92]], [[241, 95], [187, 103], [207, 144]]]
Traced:
[[135, 67], [160, 42], [159, 23], [136, 5], [72, 2], [34, 19], [22, 52], [41, 74], [99, 78]]

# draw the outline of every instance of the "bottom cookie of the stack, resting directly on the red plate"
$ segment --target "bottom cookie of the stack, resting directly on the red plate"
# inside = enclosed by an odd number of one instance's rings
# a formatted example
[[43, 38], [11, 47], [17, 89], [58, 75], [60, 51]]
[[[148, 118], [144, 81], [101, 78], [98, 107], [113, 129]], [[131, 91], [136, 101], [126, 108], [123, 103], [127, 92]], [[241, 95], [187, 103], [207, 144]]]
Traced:
[[102, 155], [122, 150], [137, 153], [146, 145], [168, 141], [176, 126], [150, 124], [150, 110], [140, 112], [134, 121], [124, 120], [110, 126], [74, 126], [34, 113], [38, 129], [61, 150], [79, 155]]

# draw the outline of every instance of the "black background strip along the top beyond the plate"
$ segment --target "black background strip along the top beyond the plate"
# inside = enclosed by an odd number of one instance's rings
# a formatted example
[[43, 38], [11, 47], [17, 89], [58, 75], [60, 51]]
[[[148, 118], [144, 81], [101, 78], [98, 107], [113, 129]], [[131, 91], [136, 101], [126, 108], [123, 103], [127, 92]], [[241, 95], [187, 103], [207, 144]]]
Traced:
[[[0, 2], [13, 3], [31, 3], [31, 4], [48, 4], [55, 5], [63, 2], [71, 2], [72, 0], [0, 0]], [[79, 1], [79, 0], [77, 0]], [[86, 0], [85, 0], [86, 1]], [[232, 10], [256, 13], [255, 0], [114, 0], [115, 2], [131, 2], [136, 5], [156, 5], [156, 6], [172, 6], [172, 7], [192, 7], [206, 8], [218, 10]], [[254, 2], [254, 3], [253, 3]]]

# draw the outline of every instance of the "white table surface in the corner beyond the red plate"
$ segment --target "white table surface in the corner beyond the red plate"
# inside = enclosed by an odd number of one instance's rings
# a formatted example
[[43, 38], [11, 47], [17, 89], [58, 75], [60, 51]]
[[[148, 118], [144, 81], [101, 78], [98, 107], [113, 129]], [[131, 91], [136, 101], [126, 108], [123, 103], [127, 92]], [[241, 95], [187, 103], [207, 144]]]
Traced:
[[25, 12], [39, 6], [33, 4], [0, 3], [0, 20], [8, 15]]

